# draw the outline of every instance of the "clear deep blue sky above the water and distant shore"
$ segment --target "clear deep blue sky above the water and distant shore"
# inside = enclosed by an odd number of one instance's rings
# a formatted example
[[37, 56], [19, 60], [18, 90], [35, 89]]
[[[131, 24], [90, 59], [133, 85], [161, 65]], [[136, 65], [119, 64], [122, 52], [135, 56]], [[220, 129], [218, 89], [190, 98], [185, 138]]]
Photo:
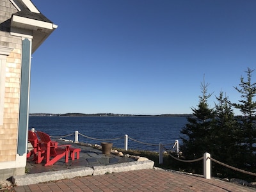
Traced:
[[256, 68], [254, 0], [32, 2], [58, 28], [31, 60], [30, 113], [191, 113], [204, 76], [214, 107]]

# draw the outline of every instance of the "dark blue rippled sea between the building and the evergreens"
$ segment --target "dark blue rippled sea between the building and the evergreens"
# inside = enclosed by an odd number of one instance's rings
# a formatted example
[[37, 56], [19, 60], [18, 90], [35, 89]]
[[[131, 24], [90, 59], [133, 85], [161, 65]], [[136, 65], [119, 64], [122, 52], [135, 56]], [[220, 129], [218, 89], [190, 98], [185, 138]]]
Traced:
[[[91, 138], [113, 140], [114, 147], [124, 148], [124, 135], [129, 138], [152, 144], [168, 144], [172, 148], [175, 140], [180, 138], [180, 129], [187, 123], [186, 117], [159, 116], [29, 116], [29, 129], [35, 127], [51, 136], [64, 136], [75, 131]], [[65, 139], [74, 140], [74, 135]], [[79, 135], [79, 141], [84, 143], [98, 143]], [[157, 151], [158, 146], [145, 145], [129, 139], [128, 148]]]

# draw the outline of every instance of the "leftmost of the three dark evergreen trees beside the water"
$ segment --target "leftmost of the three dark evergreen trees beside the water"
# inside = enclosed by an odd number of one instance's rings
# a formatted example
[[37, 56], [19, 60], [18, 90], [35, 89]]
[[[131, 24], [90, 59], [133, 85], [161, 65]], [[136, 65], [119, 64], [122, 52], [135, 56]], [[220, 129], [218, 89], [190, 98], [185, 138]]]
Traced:
[[188, 117], [188, 124], [180, 131], [182, 136], [182, 152], [185, 159], [196, 159], [202, 157], [211, 147], [209, 135], [212, 131], [213, 110], [209, 108], [207, 99], [212, 94], [207, 94], [209, 84], [201, 83], [202, 95], [199, 96], [197, 108], [191, 108], [193, 116]]

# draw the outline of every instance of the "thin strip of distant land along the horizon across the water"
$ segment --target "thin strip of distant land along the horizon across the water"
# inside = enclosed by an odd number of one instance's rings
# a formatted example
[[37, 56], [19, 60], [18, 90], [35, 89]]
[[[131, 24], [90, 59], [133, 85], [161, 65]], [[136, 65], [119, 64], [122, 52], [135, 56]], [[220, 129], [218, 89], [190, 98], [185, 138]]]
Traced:
[[192, 114], [163, 114], [163, 115], [130, 115], [130, 114], [114, 114], [114, 113], [29, 113], [29, 116], [193, 116]]

